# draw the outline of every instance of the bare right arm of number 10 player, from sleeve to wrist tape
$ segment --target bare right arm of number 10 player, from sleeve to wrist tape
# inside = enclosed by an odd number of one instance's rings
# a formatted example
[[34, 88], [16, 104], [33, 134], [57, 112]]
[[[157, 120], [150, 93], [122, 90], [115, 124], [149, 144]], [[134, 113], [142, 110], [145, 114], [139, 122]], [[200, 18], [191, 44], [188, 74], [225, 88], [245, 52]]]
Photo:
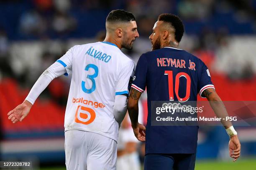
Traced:
[[212, 110], [215, 112], [215, 115], [221, 118], [221, 123], [223, 124], [225, 129], [232, 126], [232, 123], [229, 120], [226, 120], [226, 117], [228, 117], [228, 112], [215, 90], [212, 88], [206, 89], [204, 91], [204, 94], [207, 97], [207, 100], [210, 102], [210, 105], [212, 107]]

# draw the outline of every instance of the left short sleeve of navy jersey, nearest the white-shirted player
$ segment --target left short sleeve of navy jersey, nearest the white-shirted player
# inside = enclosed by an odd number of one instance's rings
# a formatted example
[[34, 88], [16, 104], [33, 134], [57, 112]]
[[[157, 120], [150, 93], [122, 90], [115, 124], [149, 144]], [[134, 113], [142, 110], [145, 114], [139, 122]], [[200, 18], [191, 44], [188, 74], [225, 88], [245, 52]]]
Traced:
[[144, 92], [146, 89], [146, 76], [148, 70], [148, 62], [146, 56], [143, 54], [138, 60], [135, 75], [133, 77], [133, 83], [131, 87], [138, 90], [139, 92]]

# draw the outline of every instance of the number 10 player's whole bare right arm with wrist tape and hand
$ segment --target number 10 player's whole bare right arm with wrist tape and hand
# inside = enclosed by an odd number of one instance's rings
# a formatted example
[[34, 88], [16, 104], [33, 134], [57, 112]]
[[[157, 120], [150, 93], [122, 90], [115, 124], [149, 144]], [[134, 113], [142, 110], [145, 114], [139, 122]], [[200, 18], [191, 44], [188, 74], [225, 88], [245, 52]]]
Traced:
[[[208, 88], [204, 90], [204, 95], [207, 97], [207, 100], [210, 102], [212, 109], [215, 114], [222, 118], [221, 122], [225, 127], [229, 137], [229, 155], [231, 158], [234, 158], [233, 161], [236, 161], [240, 157], [241, 152], [241, 144], [239, 142], [236, 130], [233, 128], [232, 123], [230, 121], [225, 121], [225, 117], [228, 117], [228, 112], [223, 104], [222, 100], [215, 92], [213, 88]], [[223, 119], [224, 118], [224, 119]]]

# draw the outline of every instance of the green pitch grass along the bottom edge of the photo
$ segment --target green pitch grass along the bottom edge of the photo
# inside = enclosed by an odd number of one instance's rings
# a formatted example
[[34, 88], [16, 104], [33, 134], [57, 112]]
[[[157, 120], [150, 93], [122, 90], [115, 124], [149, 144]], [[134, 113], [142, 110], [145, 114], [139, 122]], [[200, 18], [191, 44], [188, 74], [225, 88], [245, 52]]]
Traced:
[[[66, 170], [66, 167], [40, 168], [40, 170]], [[238, 159], [236, 162], [198, 160], [196, 161], [195, 170], [256, 170], [256, 158]]]

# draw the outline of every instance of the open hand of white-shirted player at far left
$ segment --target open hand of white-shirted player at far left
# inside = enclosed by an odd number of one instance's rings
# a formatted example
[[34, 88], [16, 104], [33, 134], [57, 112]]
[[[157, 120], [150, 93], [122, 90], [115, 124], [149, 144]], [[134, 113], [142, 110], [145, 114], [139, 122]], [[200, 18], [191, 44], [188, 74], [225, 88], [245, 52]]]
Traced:
[[18, 121], [21, 122], [28, 115], [31, 107], [32, 104], [27, 100], [24, 100], [24, 102], [15, 107], [15, 109], [8, 112], [8, 119], [13, 123], [16, 123]]

